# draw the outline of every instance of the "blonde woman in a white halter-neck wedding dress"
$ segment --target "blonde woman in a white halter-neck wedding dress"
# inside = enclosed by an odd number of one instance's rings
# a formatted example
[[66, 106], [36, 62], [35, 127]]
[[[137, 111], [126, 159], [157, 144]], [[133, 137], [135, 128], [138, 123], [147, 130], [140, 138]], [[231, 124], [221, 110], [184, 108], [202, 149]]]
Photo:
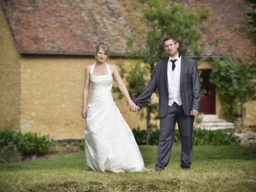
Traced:
[[[132, 131], [113, 100], [113, 77], [128, 101], [129, 108], [138, 111], [122, 82], [118, 69], [107, 64], [110, 47], [99, 42], [95, 47], [96, 62], [85, 69], [82, 118], [86, 119], [86, 164], [99, 172], [146, 171]], [[86, 107], [90, 84], [92, 94]]]

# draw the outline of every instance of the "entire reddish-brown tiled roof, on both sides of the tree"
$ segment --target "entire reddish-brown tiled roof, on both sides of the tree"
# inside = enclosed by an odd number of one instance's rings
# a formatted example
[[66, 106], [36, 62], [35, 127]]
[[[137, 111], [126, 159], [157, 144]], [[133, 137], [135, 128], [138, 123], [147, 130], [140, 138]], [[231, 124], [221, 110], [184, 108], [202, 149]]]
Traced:
[[[180, 0], [187, 9], [197, 2], [208, 6], [216, 23], [204, 36], [204, 55], [247, 56], [250, 41], [237, 33], [250, 10], [245, 0]], [[107, 41], [112, 54], [126, 53], [127, 22], [120, 0], [0, 0], [18, 51], [94, 52]], [[175, 34], [174, 34], [175, 36]], [[215, 44], [220, 40], [218, 44]]]

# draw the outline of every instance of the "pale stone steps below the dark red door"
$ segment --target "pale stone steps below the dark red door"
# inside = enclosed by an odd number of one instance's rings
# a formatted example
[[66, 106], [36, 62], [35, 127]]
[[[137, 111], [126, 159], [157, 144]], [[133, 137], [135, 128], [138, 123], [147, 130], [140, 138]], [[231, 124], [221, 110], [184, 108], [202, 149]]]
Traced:
[[219, 119], [217, 115], [204, 115], [202, 119], [200, 119], [200, 117], [196, 117], [195, 122], [197, 122], [195, 128], [201, 128], [206, 130], [235, 128], [234, 123], [227, 122], [223, 119]]

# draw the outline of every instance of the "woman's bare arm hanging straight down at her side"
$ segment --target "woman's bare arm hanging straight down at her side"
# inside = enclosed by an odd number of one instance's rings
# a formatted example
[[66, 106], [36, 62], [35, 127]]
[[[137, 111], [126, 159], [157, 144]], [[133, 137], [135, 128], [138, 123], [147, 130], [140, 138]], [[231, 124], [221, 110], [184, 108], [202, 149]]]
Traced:
[[86, 118], [87, 116], [87, 110], [86, 110], [86, 102], [90, 91], [90, 68], [91, 66], [87, 66], [84, 71], [84, 89], [83, 89], [83, 95], [82, 95], [82, 118]]

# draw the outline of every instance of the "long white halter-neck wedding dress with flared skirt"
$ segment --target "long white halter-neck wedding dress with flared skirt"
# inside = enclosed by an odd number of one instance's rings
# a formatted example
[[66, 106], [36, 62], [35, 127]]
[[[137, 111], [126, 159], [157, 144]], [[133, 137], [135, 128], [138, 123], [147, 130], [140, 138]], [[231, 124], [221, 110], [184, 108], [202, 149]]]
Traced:
[[85, 128], [86, 164], [99, 172], [146, 171], [140, 150], [111, 93], [112, 74], [92, 75]]

